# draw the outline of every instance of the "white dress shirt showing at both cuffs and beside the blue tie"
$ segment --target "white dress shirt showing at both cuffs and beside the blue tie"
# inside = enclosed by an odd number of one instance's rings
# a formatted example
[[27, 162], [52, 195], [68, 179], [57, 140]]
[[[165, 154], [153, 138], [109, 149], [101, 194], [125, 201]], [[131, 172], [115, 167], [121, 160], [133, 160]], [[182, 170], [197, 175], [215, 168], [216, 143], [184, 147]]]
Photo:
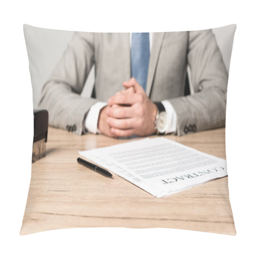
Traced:
[[[149, 49], [151, 52], [152, 48], [152, 42], [153, 42], [153, 34], [154, 33], [149, 33]], [[132, 46], [132, 33], [130, 33], [130, 48]], [[177, 123], [177, 115], [172, 107], [172, 104], [168, 100], [163, 100], [161, 101], [162, 104], [164, 105], [166, 115], [167, 115], [167, 127], [166, 127], [166, 132], [171, 133], [171, 132], [176, 132], [176, 123]], [[91, 132], [91, 133], [100, 133], [97, 125], [98, 125], [98, 119], [99, 119], [99, 113], [100, 109], [107, 106], [107, 102], [96, 102], [92, 107], [90, 108], [86, 119], [85, 119], [85, 128]]]

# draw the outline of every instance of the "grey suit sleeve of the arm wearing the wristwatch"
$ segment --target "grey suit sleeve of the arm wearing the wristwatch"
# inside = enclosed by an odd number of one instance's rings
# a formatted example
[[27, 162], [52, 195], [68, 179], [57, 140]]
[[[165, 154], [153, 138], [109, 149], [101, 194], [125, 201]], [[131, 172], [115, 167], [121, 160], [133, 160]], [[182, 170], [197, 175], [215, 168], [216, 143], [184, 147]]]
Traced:
[[228, 73], [212, 30], [190, 31], [188, 65], [194, 94], [169, 100], [177, 133], [225, 126]]

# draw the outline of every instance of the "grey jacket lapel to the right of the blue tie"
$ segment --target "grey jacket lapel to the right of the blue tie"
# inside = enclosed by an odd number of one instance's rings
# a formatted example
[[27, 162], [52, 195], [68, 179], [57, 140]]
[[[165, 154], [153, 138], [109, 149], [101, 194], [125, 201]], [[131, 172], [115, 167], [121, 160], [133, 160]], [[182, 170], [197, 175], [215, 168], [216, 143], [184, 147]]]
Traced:
[[150, 59], [149, 59], [149, 65], [148, 65], [148, 79], [147, 79], [147, 87], [146, 87], [146, 94], [148, 95], [148, 97], [153, 84], [157, 61], [158, 61], [159, 53], [163, 44], [164, 35], [165, 35], [165, 32], [154, 33], [153, 35], [153, 43], [152, 43], [152, 50], [150, 53]]

